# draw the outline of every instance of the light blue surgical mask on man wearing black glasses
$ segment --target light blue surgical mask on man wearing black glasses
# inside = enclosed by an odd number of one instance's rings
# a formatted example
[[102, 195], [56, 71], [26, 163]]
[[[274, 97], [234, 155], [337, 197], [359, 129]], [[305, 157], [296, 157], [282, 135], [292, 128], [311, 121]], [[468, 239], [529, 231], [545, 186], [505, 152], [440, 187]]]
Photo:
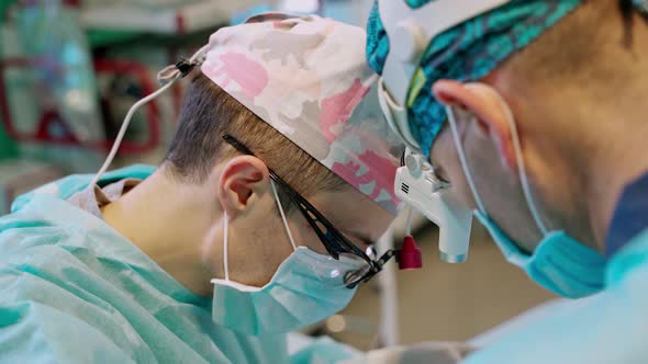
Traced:
[[228, 219], [225, 215], [225, 278], [211, 281], [214, 284], [213, 320], [247, 335], [295, 331], [333, 316], [345, 308], [356, 293], [356, 288], [347, 288], [344, 283], [345, 274], [364, 266], [345, 257], [335, 260], [309, 248], [297, 247], [273, 182], [272, 193], [292, 253], [262, 287], [231, 281], [227, 269]]

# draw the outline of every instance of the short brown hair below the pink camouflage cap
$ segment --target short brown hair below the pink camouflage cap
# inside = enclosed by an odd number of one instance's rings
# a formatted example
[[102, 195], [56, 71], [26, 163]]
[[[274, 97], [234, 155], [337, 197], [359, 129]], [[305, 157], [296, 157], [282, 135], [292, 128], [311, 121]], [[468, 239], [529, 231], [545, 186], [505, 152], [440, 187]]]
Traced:
[[[185, 183], [202, 183], [219, 160], [236, 153], [223, 140], [225, 134], [253, 150], [303, 196], [348, 186], [201, 72], [187, 89], [178, 130], [165, 158], [170, 175]], [[288, 196], [279, 192], [281, 204], [290, 211]]]

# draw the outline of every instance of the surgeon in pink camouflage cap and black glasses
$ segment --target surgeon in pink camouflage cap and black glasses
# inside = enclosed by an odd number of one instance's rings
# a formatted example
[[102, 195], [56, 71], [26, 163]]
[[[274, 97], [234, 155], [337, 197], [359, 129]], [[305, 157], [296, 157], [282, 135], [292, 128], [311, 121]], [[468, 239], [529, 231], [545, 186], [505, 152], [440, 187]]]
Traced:
[[364, 45], [359, 27], [266, 14], [161, 72], [163, 91], [192, 80], [158, 168], [103, 173], [115, 146], [99, 174], [0, 218], [0, 363], [349, 356], [331, 340], [290, 356], [286, 333], [343, 309], [393, 255], [371, 244], [399, 208], [402, 147], [368, 102]]

